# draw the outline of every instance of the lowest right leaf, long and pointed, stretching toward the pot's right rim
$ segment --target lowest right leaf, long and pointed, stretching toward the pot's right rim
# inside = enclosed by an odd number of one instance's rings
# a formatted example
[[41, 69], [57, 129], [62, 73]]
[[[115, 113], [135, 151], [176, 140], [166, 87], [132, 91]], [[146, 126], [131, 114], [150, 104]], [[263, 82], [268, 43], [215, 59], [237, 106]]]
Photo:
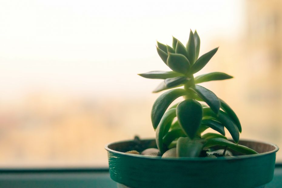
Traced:
[[233, 149], [234, 151], [237, 151], [237, 152], [240, 152], [246, 155], [257, 154], [257, 152], [253, 149], [250, 149], [246, 146], [237, 145], [224, 138], [207, 139], [207, 142], [204, 144], [204, 149], [208, 149], [212, 146], [227, 146], [230, 149]]

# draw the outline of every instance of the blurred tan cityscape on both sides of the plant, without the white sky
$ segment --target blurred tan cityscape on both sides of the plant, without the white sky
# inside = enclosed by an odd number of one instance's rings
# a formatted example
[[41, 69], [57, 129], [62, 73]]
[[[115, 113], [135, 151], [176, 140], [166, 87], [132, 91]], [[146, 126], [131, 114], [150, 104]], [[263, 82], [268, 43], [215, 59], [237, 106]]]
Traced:
[[[244, 8], [243, 32], [210, 42], [210, 49], [220, 50], [202, 72], [235, 78], [204, 86], [235, 110], [243, 125], [241, 138], [282, 147], [282, 1], [247, 0]], [[1, 101], [0, 167], [107, 166], [106, 143], [135, 134], [154, 137], [150, 110], [157, 96], [35, 91]]]

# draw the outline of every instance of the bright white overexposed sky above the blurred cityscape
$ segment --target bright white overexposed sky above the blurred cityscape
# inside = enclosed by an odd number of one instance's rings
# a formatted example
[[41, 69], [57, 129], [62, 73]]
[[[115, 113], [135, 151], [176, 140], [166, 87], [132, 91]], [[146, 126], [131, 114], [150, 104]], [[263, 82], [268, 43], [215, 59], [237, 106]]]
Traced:
[[2, 0], [0, 99], [38, 90], [143, 95], [158, 81], [136, 74], [168, 70], [156, 40], [186, 43], [190, 29], [203, 49], [232, 39], [242, 31], [243, 2]]

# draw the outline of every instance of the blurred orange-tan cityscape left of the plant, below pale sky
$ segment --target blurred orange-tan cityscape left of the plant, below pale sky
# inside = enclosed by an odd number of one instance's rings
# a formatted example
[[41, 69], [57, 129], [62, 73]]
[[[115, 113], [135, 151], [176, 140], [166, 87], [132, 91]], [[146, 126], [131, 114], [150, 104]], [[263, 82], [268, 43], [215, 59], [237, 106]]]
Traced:
[[[106, 143], [154, 136], [146, 99], [66, 99], [36, 93], [0, 109], [0, 166], [106, 166]], [[134, 131], [133, 131], [134, 130]], [[152, 134], [148, 134], [152, 133]]]

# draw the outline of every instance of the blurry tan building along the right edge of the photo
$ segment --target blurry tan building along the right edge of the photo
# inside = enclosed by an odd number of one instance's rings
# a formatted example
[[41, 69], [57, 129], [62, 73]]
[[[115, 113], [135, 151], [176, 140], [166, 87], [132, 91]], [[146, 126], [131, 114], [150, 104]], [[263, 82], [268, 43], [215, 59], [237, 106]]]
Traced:
[[282, 1], [246, 1], [245, 101], [255, 126], [271, 127], [269, 136], [281, 135], [282, 126]]

